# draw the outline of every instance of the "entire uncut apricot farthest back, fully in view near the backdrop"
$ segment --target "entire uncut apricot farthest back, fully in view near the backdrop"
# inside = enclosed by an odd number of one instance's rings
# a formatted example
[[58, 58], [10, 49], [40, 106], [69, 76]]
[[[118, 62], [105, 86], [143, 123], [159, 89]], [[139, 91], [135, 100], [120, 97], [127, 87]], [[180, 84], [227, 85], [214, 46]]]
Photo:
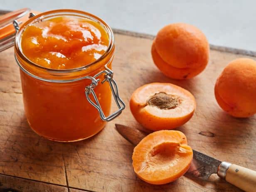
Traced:
[[209, 61], [209, 43], [197, 27], [174, 23], [163, 27], [155, 37], [153, 61], [172, 79], [190, 79], [201, 73]]

